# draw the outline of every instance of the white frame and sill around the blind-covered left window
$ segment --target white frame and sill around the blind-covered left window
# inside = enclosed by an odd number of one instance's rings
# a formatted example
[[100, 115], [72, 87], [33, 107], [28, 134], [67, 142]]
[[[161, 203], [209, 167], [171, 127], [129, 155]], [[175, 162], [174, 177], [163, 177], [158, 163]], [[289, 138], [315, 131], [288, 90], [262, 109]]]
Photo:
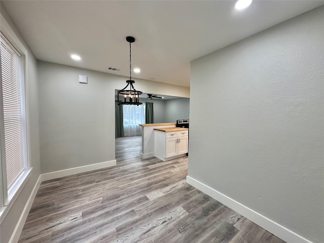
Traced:
[[[10, 27], [4, 16], [1, 14], [1, 34], [7, 39], [10, 45], [21, 55], [21, 102], [22, 102], [22, 116], [23, 116], [23, 151], [24, 151], [24, 171], [15, 181], [15, 183], [8, 190], [7, 188], [7, 173], [5, 165], [5, 152], [4, 152], [4, 136], [0, 139], [0, 223], [3, 222], [10, 208], [14, 204], [15, 200], [22, 191], [24, 185], [27, 183], [32, 167], [31, 167], [31, 156], [30, 156], [30, 129], [29, 129], [29, 104], [28, 104], [28, 52], [24, 45], [21, 43], [19, 37], [15, 34], [13, 29]], [[2, 99], [1, 95], [1, 99]], [[0, 131], [3, 135], [4, 124], [3, 124], [3, 107], [1, 105], [1, 117], [0, 117]]]

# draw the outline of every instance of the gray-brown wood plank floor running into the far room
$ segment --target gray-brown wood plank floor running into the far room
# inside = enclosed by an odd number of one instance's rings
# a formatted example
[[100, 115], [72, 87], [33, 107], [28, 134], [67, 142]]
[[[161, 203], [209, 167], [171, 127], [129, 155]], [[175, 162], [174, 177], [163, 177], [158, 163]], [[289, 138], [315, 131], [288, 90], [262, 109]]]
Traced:
[[116, 166], [43, 182], [19, 242], [284, 242], [188, 185], [186, 156], [140, 154], [118, 138]]

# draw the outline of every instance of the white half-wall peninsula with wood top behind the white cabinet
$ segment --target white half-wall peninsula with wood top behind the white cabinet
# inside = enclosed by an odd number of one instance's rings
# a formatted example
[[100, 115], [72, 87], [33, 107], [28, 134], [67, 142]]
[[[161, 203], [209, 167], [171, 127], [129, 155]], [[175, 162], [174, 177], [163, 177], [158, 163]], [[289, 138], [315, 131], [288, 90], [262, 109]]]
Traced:
[[154, 157], [154, 129], [176, 128], [176, 123], [140, 124], [142, 127], [142, 153], [141, 158]]

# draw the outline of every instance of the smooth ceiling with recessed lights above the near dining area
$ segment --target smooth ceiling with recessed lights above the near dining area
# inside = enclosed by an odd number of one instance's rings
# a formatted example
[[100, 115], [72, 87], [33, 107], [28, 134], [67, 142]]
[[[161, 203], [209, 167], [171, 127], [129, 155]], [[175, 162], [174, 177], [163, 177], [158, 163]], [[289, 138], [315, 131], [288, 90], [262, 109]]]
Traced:
[[2, 2], [38, 60], [129, 76], [131, 35], [135, 80], [185, 87], [191, 60], [324, 4], [255, 0], [235, 11], [230, 0]]

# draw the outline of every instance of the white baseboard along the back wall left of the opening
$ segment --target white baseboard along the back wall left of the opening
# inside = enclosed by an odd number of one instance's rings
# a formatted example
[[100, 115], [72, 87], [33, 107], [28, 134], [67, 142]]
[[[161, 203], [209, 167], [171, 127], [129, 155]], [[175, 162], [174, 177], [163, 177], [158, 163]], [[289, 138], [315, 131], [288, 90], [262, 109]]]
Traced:
[[45, 173], [45, 174], [42, 174], [41, 176], [42, 176], [42, 181], [48, 181], [48, 180], [52, 180], [52, 179], [56, 179], [56, 178], [60, 178], [60, 177], [64, 177], [64, 176], [70, 176], [70, 175], [74, 175], [74, 174], [78, 174], [78, 173], [99, 170], [99, 169], [103, 169], [103, 168], [107, 168], [107, 167], [111, 167], [111, 166], [115, 166], [115, 165], [116, 165], [116, 159], [102, 162], [102, 163], [93, 164], [93, 165], [88, 165], [88, 166], [80, 166], [80, 167], [70, 168], [70, 169], [66, 169], [66, 170], [62, 170], [62, 171], [54, 171], [54, 172], [50, 172], [50, 173]]

